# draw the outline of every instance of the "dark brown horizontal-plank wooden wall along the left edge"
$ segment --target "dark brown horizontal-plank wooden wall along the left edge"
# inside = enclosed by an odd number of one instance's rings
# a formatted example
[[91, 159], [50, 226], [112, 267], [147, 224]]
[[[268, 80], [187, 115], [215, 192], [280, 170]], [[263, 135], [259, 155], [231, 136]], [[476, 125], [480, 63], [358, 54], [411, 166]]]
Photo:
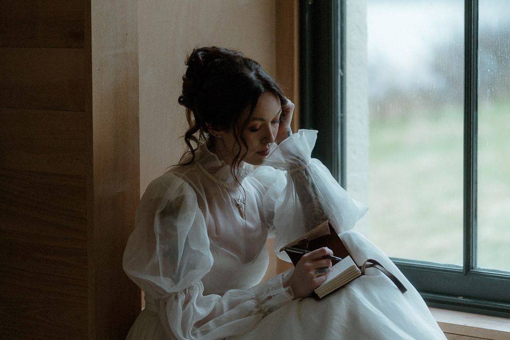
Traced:
[[2, 339], [88, 335], [87, 4], [0, 2]]

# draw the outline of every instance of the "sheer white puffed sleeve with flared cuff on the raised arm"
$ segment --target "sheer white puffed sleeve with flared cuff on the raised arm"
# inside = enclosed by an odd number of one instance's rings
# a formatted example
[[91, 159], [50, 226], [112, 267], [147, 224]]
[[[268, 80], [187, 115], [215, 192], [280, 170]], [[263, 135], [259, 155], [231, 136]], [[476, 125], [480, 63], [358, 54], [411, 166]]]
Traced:
[[[320, 161], [311, 158], [316, 139], [317, 131], [299, 130], [280, 143], [263, 167], [254, 172], [267, 187], [263, 202], [266, 222], [276, 231], [274, 250], [287, 261], [287, 254], [278, 251], [281, 247], [325, 220], [331, 221], [338, 233], [352, 229], [368, 210]], [[285, 172], [286, 180], [279, 179], [277, 172]], [[269, 178], [276, 180], [269, 185]]]

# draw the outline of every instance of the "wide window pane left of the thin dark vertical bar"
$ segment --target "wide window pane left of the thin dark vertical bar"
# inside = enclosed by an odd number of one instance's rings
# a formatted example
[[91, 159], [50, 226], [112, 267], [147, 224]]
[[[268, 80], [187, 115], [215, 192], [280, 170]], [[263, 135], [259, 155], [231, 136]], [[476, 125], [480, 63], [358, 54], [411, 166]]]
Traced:
[[462, 265], [464, 1], [368, 0], [370, 237]]

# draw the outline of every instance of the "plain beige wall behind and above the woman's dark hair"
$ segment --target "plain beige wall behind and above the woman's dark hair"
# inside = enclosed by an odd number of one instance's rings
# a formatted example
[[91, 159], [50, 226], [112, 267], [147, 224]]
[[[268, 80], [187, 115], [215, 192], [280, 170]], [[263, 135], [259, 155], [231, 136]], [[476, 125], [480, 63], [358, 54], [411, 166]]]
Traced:
[[185, 57], [195, 46], [244, 52], [276, 75], [273, 0], [140, 0], [140, 189], [179, 161], [186, 131], [177, 104]]

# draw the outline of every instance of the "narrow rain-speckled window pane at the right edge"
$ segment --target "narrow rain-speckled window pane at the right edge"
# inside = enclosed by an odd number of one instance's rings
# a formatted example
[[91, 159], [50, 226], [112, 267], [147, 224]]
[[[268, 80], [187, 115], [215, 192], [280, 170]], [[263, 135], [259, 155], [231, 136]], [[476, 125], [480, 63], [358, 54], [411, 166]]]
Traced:
[[510, 271], [510, 6], [479, 2], [478, 266]]

